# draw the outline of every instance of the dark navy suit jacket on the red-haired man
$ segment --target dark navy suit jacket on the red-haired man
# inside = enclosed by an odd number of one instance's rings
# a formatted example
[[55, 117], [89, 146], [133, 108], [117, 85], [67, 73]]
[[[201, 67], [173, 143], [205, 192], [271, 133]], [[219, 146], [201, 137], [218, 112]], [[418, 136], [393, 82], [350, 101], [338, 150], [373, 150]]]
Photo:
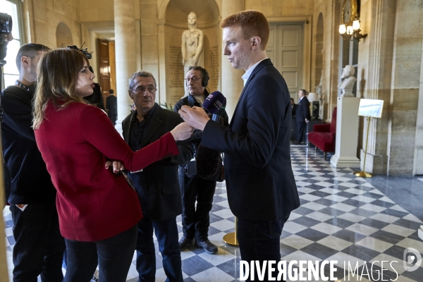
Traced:
[[290, 94], [270, 59], [248, 79], [229, 128], [207, 122], [204, 146], [225, 153], [231, 211], [239, 219], [273, 221], [300, 207], [290, 161]]

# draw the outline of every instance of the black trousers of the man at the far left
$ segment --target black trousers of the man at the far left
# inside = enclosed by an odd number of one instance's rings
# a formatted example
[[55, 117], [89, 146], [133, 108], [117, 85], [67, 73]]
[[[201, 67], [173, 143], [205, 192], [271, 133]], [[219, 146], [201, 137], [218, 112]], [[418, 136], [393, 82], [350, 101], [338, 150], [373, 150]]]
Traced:
[[56, 202], [28, 204], [24, 211], [10, 207], [13, 219], [13, 281], [62, 281], [65, 240], [59, 231]]

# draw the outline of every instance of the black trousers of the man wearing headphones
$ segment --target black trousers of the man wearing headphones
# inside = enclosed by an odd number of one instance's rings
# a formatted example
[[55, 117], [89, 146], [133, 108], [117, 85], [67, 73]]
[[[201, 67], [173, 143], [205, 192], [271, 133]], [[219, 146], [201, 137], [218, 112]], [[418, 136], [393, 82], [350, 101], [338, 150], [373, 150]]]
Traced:
[[[179, 170], [180, 195], [182, 197], [182, 230], [186, 238], [207, 240], [216, 181], [190, 178]], [[195, 201], [197, 200], [197, 207]]]

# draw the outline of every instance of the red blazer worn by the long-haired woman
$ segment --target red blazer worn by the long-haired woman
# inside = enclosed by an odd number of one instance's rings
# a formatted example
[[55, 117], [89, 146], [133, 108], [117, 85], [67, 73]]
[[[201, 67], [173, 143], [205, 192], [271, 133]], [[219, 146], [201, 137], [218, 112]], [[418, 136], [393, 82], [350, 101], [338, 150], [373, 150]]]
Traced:
[[78, 102], [59, 110], [47, 104], [35, 139], [57, 190], [61, 234], [78, 241], [110, 238], [142, 219], [137, 193], [105, 168], [106, 159], [139, 171], [179, 154], [171, 133], [132, 152], [104, 111]]

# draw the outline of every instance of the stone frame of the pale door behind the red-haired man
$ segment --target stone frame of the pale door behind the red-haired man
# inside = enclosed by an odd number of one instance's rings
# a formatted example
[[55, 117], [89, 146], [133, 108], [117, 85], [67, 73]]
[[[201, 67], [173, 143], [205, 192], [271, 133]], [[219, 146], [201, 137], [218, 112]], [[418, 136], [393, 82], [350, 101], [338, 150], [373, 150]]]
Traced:
[[277, 17], [266, 17], [269, 24], [298, 24], [304, 23], [304, 34], [302, 38], [302, 84], [304, 89], [311, 91], [311, 79], [312, 79], [312, 15], [305, 16], [277, 16]]

